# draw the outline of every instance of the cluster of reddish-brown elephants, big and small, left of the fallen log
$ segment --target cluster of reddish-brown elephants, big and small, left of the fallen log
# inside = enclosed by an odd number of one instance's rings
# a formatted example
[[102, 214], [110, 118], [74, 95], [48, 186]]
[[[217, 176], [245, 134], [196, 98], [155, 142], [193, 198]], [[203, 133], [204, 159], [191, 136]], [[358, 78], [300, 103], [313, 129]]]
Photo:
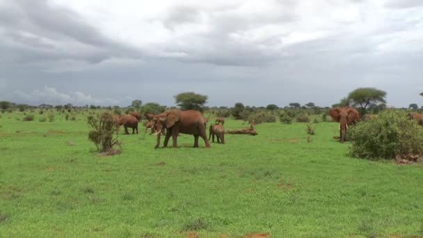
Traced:
[[[179, 133], [192, 134], [194, 136], [193, 147], [195, 148], [198, 148], [199, 137], [205, 141], [206, 148], [210, 148], [210, 137], [212, 137], [213, 142], [214, 136], [216, 136], [218, 143], [225, 143], [225, 129], [223, 127], [223, 123], [225, 123], [224, 118], [217, 118], [215, 124], [210, 125], [209, 138], [207, 138], [207, 118], [202, 116], [200, 111], [181, 111], [178, 109], [172, 109], [157, 115], [145, 113], [144, 116], [148, 120], [145, 132], [147, 132], [147, 129], [151, 129], [152, 135], [157, 136], [157, 144], [155, 148], [158, 148], [160, 145], [161, 134], [165, 135], [163, 147], [167, 147], [168, 141], [170, 137], [172, 137], [173, 147], [176, 148], [177, 136]], [[132, 134], [138, 134], [138, 122], [141, 122], [141, 119], [141, 113], [139, 112], [133, 112], [122, 116], [113, 116], [113, 120], [118, 126], [118, 131], [120, 126], [123, 126], [125, 128], [125, 134], [129, 134], [128, 128], [132, 129]]]

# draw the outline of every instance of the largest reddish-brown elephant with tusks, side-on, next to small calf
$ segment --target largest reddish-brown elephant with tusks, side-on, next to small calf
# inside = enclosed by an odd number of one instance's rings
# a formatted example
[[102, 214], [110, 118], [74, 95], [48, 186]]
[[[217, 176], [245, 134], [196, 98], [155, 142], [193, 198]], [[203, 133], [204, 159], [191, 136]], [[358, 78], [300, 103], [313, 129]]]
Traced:
[[168, 146], [170, 136], [173, 139], [173, 148], [177, 147], [177, 135], [180, 133], [191, 134], [194, 136], [194, 146], [198, 148], [198, 137], [204, 140], [206, 148], [210, 148], [209, 140], [206, 134], [206, 118], [202, 116], [200, 111], [181, 111], [177, 109], [168, 110], [154, 116], [153, 130], [154, 136], [157, 136], [157, 144], [155, 148], [160, 145], [160, 135], [162, 129], [166, 128], [166, 137], [164, 139], [163, 147]]

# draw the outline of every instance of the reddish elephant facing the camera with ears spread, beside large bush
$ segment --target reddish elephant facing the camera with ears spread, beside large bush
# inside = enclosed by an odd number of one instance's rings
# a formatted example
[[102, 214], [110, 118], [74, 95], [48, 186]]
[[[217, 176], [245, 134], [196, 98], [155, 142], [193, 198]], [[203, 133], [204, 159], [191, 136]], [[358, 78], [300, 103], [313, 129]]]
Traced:
[[346, 141], [345, 134], [348, 125], [357, 122], [358, 118], [360, 118], [357, 109], [352, 106], [334, 107], [329, 110], [329, 115], [333, 120], [340, 122], [340, 138], [341, 143], [344, 143]]

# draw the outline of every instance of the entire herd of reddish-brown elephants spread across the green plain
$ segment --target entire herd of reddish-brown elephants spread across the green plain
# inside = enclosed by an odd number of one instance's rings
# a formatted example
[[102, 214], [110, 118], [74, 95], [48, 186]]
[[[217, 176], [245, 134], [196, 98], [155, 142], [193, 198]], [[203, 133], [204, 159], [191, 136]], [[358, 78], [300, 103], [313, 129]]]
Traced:
[[[340, 127], [340, 141], [344, 143], [346, 141], [346, 130], [349, 126], [356, 123], [359, 119], [359, 113], [357, 109], [352, 106], [334, 107], [329, 110], [329, 115], [335, 122], [339, 122]], [[170, 137], [172, 137], [173, 147], [177, 147], [177, 136], [179, 133], [192, 134], [194, 136], [194, 146], [198, 148], [198, 138], [201, 137], [206, 145], [206, 148], [210, 148], [209, 140], [212, 138], [214, 142], [214, 136], [217, 138], [217, 143], [225, 143], [225, 123], [224, 118], [217, 118], [215, 123], [209, 127], [209, 138], [206, 134], [206, 123], [207, 118], [202, 116], [200, 111], [188, 110], [181, 111], [178, 109], [172, 109], [154, 115], [152, 113], [145, 113], [145, 118], [148, 122], [145, 127], [151, 129], [152, 135], [157, 136], [157, 143], [155, 148], [158, 148], [161, 141], [161, 134], [165, 135], [163, 147], [168, 146]], [[377, 117], [377, 115], [367, 114], [362, 120], [371, 120]], [[417, 120], [417, 122], [423, 126], [423, 113], [408, 113], [410, 120]], [[129, 134], [128, 128], [132, 129], [132, 134], [138, 134], [138, 122], [141, 122], [141, 113], [133, 112], [127, 115], [118, 116], [115, 115], [113, 120], [118, 129], [120, 126], [125, 127], [125, 134]], [[144, 133], [145, 133], [144, 132]]]

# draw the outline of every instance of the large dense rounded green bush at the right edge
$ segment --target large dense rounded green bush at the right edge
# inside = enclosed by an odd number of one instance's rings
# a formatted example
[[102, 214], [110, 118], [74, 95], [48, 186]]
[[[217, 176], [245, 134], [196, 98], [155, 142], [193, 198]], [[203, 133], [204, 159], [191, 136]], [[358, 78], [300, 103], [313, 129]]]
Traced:
[[358, 122], [348, 131], [351, 155], [364, 159], [393, 159], [423, 154], [423, 127], [403, 111], [383, 111], [373, 120]]

